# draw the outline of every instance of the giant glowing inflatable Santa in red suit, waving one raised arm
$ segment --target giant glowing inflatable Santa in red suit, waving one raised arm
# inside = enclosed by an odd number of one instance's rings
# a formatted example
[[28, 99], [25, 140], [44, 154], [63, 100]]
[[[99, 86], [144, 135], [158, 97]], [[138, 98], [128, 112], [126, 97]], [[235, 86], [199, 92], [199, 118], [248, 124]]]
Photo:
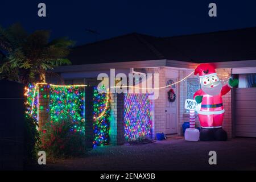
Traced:
[[226, 131], [222, 129], [224, 107], [222, 96], [238, 85], [237, 79], [229, 79], [227, 85], [222, 86], [220, 79], [212, 64], [200, 64], [195, 69], [195, 75], [199, 75], [201, 89], [194, 94], [194, 99], [201, 103], [200, 111], [197, 111], [201, 125], [200, 140], [227, 140]]

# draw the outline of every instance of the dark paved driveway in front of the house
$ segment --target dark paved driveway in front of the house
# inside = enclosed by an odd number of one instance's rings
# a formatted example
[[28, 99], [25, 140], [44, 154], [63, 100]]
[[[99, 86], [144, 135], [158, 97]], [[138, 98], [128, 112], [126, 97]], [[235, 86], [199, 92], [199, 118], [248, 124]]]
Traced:
[[[208, 152], [217, 152], [217, 165], [208, 164]], [[59, 159], [39, 170], [256, 170], [256, 139], [227, 142], [186, 142], [184, 139], [151, 144], [102, 146], [83, 158]]]

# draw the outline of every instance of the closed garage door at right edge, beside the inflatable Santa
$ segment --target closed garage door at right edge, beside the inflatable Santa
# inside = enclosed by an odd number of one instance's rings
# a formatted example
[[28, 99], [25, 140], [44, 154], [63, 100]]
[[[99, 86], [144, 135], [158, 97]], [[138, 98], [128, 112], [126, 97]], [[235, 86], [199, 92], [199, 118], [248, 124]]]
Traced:
[[256, 88], [237, 88], [236, 136], [256, 137]]

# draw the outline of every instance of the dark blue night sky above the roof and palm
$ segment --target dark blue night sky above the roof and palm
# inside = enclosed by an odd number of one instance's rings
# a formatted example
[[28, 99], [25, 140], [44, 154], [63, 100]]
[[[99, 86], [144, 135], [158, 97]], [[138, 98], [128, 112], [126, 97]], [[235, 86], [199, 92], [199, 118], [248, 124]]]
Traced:
[[[47, 17], [38, 16], [38, 3]], [[217, 17], [208, 16], [210, 2]], [[95, 41], [86, 28], [97, 30], [98, 40], [138, 32], [174, 36], [256, 26], [256, 1], [144, 1], [144, 0], [1, 0], [0, 25], [21, 23], [26, 30], [51, 30], [51, 38], [68, 36], [77, 44]]]

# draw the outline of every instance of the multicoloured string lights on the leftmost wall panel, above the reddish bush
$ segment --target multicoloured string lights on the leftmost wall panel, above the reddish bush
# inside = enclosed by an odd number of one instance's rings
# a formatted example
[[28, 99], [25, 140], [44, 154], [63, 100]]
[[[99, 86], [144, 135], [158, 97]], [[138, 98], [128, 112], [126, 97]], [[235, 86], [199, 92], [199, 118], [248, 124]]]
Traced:
[[[39, 106], [40, 110], [49, 111], [51, 122], [71, 119], [74, 122], [73, 131], [84, 131], [84, 86], [86, 85], [29, 84], [24, 93], [27, 96], [26, 113], [38, 119], [36, 106]], [[38, 98], [49, 98], [49, 108], [44, 108]]]

